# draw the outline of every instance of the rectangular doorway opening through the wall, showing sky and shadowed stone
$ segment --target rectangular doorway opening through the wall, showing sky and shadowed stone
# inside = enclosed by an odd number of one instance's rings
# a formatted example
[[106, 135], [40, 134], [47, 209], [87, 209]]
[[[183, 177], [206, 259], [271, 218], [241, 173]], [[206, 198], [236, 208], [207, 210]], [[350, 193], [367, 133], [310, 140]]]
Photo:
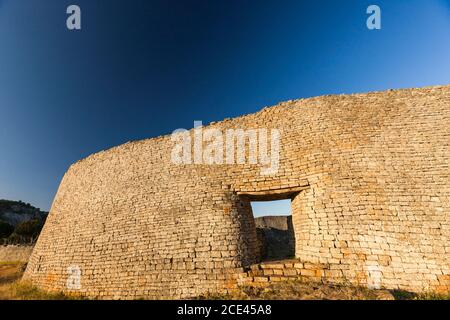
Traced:
[[252, 199], [258, 249], [261, 261], [295, 257], [295, 235], [291, 199], [267, 201]]

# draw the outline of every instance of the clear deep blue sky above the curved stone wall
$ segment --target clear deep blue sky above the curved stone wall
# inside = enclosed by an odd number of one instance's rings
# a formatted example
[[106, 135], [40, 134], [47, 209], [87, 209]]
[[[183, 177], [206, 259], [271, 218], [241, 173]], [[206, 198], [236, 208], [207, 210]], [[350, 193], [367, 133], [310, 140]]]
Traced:
[[0, 0], [0, 198], [49, 209], [71, 163], [194, 120], [448, 83], [450, 1]]

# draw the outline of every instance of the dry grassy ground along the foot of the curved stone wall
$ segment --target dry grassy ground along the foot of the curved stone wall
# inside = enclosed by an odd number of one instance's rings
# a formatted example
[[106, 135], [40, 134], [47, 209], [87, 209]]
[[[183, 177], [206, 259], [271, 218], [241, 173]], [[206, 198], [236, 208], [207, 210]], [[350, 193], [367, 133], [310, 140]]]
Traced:
[[[24, 263], [0, 262], [0, 300], [65, 300], [62, 293], [48, 294], [30, 284], [20, 282]], [[369, 290], [352, 286], [332, 286], [309, 282], [289, 281], [268, 288], [242, 287], [233, 295], [210, 295], [198, 299], [267, 299], [267, 300], [394, 300], [394, 299], [450, 299], [448, 295], [416, 295], [407, 292]]]

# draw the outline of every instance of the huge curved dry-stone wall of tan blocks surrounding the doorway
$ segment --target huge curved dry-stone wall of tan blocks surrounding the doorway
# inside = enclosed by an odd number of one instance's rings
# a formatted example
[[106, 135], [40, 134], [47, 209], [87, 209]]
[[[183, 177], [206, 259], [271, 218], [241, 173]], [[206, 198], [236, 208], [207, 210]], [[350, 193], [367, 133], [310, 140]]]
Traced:
[[[99, 299], [228, 292], [258, 272], [450, 289], [450, 86], [288, 101], [209, 127], [280, 130], [278, 172], [173, 164], [170, 136], [91, 155], [65, 174], [24, 279]], [[251, 267], [250, 201], [282, 198], [297, 264]]]

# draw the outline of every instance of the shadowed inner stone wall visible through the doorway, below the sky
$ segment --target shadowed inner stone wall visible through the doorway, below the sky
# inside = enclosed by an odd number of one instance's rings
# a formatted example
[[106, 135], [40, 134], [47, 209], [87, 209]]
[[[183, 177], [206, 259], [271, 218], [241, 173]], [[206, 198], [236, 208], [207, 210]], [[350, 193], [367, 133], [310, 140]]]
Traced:
[[292, 216], [255, 218], [258, 246], [262, 261], [293, 259], [295, 236]]

